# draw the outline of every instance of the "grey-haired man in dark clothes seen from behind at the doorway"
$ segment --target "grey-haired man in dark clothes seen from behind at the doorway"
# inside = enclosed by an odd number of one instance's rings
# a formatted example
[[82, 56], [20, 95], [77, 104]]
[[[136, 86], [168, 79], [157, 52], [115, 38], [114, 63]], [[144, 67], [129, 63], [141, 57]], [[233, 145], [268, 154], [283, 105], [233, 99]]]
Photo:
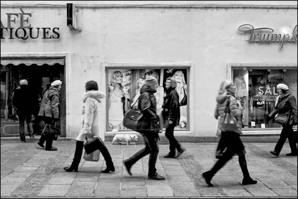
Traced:
[[25, 120], [29, 136], [30, 138], [34, 138], [31, 116], [33, 114], [34, 106], [38, 105], [38, 94], [28, 88], [27, 80], [20, 80], [20, 85], [21, 88], [16, 90], [13, 94], [13, 105], [16, 107], [16, 114], [19, 117], [20, 139], [22, 143], [25, 143]]

